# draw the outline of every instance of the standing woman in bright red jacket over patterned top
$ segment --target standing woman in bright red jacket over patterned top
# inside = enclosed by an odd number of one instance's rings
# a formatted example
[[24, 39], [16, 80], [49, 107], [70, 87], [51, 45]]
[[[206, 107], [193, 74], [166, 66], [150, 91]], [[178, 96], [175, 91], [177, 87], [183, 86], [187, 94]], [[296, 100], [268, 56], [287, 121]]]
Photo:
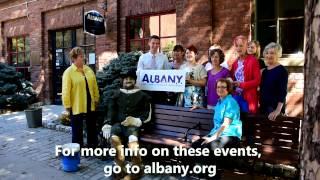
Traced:
[[238, 53], [237, 60], [232, 64], [231, 77], [234, 80], [236, 93], [248, 103], [249, 113], [258, 111], [258, 92], [260, 84], [259, 62], [253, 55], [247, 54], [247, 38], [237, 36], [233, 44]]

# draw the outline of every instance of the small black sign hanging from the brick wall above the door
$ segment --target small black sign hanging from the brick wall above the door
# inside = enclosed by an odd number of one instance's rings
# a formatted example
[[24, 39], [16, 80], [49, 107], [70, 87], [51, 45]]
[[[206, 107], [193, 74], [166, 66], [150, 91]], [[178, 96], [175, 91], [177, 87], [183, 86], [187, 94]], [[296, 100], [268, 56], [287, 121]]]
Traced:
[[84, 13], [83, 31], [93, 35], [101, 35], [105, 33], [104, 17], [95, 10]]

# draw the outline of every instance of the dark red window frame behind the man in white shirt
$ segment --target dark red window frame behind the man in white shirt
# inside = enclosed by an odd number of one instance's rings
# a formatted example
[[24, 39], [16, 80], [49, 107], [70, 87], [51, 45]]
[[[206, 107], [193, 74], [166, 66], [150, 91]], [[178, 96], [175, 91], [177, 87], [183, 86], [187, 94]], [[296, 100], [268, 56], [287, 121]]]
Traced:
[[[175, 14], [176, 15], [176, 11], [175, 10], [170, 10], [170, 11], [164, 11], [164, 12], [159, 12], [159, 13], [146, 13], [146, 14], [141, 14], [141, 15], [134, 15], [134, 16], [127, 16], [126, 17], [126, 52], [130, 52], [131, 50], [131, 42], [132, 41], [136, 41], [136, 42], [141, 42], [141, 47], [142, 47], [142, 51], [146, 52], [148, 51], [146, 48], [148, 46], [148, 42], [149, 41], [149, 36], [145, 36], [143, 34], [142, 38], [134, 38], [134, 39], [130, 39], [130, 20], [131, 19], [142, 19], [142, 30], [143, 32], [145, 32], [145, 20], [146, 18], [149, 18], [151, 16], [158, 16], [158, 22], [159, 22], [159, 37], [160, 37], [160, 51], [161, 51], [161, 39], [166, 39], [166, 38], [177, 38], [177, 33], [174, 36], [161, 36], [161, 16], [163, 15], [167, 15], [167, 14]], [[176, 27], [177, 28], [177, 27]], [[144, 50], [145, 49], [145, 50]]]

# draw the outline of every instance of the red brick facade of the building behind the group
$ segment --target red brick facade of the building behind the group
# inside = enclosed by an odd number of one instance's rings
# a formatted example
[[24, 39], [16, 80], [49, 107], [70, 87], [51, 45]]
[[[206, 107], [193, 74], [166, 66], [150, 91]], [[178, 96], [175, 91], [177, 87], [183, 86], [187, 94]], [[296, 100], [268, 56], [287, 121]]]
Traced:
[[[126, 51], [126, 19], [130, 16], [176, 13], [177, 44], [193, 44], [198, 58], [207, 60], [207, 50], [220, 44], [226, 59], [233, 56], [232, 40], [237, 35], [250, 38], [253, 33], [252, 0], [24, 0], [0, 3], [0, 61], [7, 61], [7, 40], [29, 35], [31, 80], [39, 97], [52, 103], [52, 47], [50, 32], [82, 26], [82, 9], [95, 9], [106, 17], [106, 34], [96, 36], [97, 69], [117, 52]], [[107, 4], [107, 6], [106, 6]], [[288, 67], [287, 112], [302, 113], [302, 67]]]

